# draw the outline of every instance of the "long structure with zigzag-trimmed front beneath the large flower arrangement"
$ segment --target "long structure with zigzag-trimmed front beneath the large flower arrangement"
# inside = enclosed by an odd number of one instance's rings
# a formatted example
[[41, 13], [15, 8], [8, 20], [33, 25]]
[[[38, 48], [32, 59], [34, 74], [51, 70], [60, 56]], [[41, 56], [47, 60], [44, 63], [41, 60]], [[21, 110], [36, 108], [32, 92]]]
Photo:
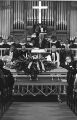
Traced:
[[30, 76], [24, 75], [23, 72], [17, 74], [15, 69], [10, 71], [15, 80], [13, 95], [66, 95], [67, 70], [62, 67], [42, 72], [38, 74], [38, 80], [34, 81], [31, 81]]

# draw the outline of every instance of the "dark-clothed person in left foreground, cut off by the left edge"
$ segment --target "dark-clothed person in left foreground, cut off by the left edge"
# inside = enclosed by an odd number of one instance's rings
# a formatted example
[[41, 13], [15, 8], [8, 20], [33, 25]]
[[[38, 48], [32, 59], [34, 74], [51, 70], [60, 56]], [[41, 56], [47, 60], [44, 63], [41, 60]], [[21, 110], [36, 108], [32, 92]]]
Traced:
[[0, 59], [0, 91], [2, 106], [10, 101], [14, 85], [13, 75], [9, 70], [3, 68], [3, 61]]

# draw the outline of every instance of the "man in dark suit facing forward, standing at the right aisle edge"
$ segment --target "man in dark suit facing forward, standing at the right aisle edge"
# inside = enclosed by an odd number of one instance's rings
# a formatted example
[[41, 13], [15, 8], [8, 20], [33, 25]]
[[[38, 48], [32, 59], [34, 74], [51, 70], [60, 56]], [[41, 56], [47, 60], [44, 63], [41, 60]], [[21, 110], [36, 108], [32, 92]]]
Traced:
[[67, 72], [67, 102], [69, 101], [69, 105], [72, 108], [73, 105], [73, 88], [74, 88], [74, 80], [76, 74], [76, 65], [72, 60], [71, 56], [66, 57], [65, 68], [68, 70]]

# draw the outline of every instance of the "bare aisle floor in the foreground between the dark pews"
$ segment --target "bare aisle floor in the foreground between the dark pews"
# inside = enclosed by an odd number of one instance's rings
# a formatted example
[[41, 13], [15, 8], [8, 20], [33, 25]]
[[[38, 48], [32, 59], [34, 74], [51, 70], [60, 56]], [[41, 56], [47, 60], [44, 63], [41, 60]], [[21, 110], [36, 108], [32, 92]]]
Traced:
[[1, 120], [77, 120], [66, 102], [13, 102]]

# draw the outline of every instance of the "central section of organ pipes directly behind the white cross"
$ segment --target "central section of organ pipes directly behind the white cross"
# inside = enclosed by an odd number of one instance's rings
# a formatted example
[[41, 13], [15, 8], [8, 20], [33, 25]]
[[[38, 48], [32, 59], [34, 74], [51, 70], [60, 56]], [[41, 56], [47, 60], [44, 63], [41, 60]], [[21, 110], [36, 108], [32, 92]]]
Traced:
[[[34, 24], [39, 23], [39, 11], [37, 9], [32, 9], [32, 6], [38, 6], [38, 1], [27, 1], [27, 26], [32, 26]], [[48, 9], [42, 9], [41, 12], [41, 21], [42, 24], [47, 26], [54, 25], [54, 9], [53, 9], [54, 2], [52, 1], [42, 1], [42, 6], [48, 6]]]

